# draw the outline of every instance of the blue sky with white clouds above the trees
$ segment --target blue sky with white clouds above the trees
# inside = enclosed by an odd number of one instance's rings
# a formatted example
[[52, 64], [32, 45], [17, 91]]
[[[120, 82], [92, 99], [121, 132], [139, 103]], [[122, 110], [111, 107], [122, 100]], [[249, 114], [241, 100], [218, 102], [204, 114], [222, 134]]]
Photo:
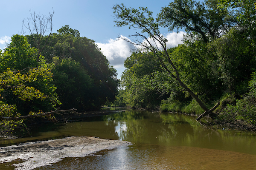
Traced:
[[[120, 79], [125, 70], [124, 61], [131, 55], [131, 45], [118, 40], [118, 35], [129, 38], [137, 30], [128, 27], [116, 27], [113, 22], [113, 9], [116, 4], [123, 3], [126, 7], [147, 7], [157, 15], [162, 7], [168, 6], [166, 0], [1, 0], [0, 10], [0, 49], [3, 51], [7, 43], [10, 43], [14, 34], [21, 34], [22, 21], [31, 17], [32, 13], [49, 15], [52, 17], [53, 32], [65, 25], [80, 32], [81, 37], [87, 37], [95, 41], [102, 53], [110, 61], [110, 65], [116, 68]], [[24, 29], [25, 34], [29, 31]], [[185, 32], [169, 32], [168, 28], [161, 28], [161, 33], [167, 38], [169, 47], [182, 43]]]

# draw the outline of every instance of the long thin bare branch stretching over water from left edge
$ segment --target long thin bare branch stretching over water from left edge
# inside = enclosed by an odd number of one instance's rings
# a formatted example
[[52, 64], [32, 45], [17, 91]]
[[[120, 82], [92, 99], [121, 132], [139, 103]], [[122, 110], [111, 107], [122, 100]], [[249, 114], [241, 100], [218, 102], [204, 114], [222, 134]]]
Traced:
[[[75, 112], [75, 113], [78, 113], [76, 112], [76, 109], [73, 108], [73, 109], [68, 109], [68, 110], [55, 110], [55, 111], [50, 111], [50, 112], [47, 112], [47, 113], [41, 113], [41, 114], [33, 114], [33, 115], [27, 115], [27, 116], [19, 116], [19, 117], [0, 117], [1, 120], [20, 120], [20, 119], [26, 119], [26, 118], [32, 118], [32, 117], [40, 117], [40, 116], [46, 116], [46, 115], [49, 115], [49, 114], [52, 114], [52, 113], [61, 113], [61, 112]], [[79, 113], [80, 114], [80, 113]]]

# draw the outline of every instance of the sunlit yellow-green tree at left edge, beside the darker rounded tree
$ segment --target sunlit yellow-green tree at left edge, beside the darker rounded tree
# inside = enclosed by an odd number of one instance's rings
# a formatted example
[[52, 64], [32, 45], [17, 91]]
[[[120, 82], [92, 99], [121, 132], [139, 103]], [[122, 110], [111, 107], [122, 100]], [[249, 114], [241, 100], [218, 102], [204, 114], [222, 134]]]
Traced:
[[[30, 48], [26, 37], [14, 35], [0, 55], [0, 128], [9, 133], [25, 126], [15, 117], [55, 110], [60, 104], [52, 82], [50, 65], [37, 59], [37, 49]], [[38, 67], [35, 67], [37, 66]], [[23, 117], [24, 118], [24, 117]]]

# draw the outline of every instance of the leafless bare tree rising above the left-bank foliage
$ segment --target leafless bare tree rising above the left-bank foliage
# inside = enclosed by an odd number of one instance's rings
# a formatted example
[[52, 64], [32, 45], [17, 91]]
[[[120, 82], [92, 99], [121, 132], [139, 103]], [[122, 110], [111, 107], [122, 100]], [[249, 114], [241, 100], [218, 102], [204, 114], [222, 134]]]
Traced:
[[[35, 12], [32, 13], [31, 9], [29, 12], [31, 17], [27, 18], [26, 23], [25, 23], [25, 20], [23, 20], [22, 33], [24, 34], [23, 27], [29, 30], [29, 33], [31, 34], [36, 44], [36, 47], [38, 48], [37, 62], [39, 62], [40, 53], [47, 45], [49, 37], [52, 34], [52, 17], [53, 17], [54, 11], [52, 8], [52, 13], [49, 13], [48, 16], [35, 14]], [[42, 40], [45, 34], [47, 33], [49, 33], [49, 35], [47, 36], [44, 44], [42, 44]]]

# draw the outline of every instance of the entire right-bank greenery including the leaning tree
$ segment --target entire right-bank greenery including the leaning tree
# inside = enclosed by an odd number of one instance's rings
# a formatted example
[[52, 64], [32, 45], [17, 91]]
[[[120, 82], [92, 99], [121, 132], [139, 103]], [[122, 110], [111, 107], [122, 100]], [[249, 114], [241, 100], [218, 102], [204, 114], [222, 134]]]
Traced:
[[[255, 2], [174, 0], [157, 18], [147, 8], [113, 9], [116, 26], [141, 30], [113, 105], [201, 114], [220, 102], [202, 122], [256, 126]], [[183, 44], [167, 48], [160, 27], [184, 28]]]

